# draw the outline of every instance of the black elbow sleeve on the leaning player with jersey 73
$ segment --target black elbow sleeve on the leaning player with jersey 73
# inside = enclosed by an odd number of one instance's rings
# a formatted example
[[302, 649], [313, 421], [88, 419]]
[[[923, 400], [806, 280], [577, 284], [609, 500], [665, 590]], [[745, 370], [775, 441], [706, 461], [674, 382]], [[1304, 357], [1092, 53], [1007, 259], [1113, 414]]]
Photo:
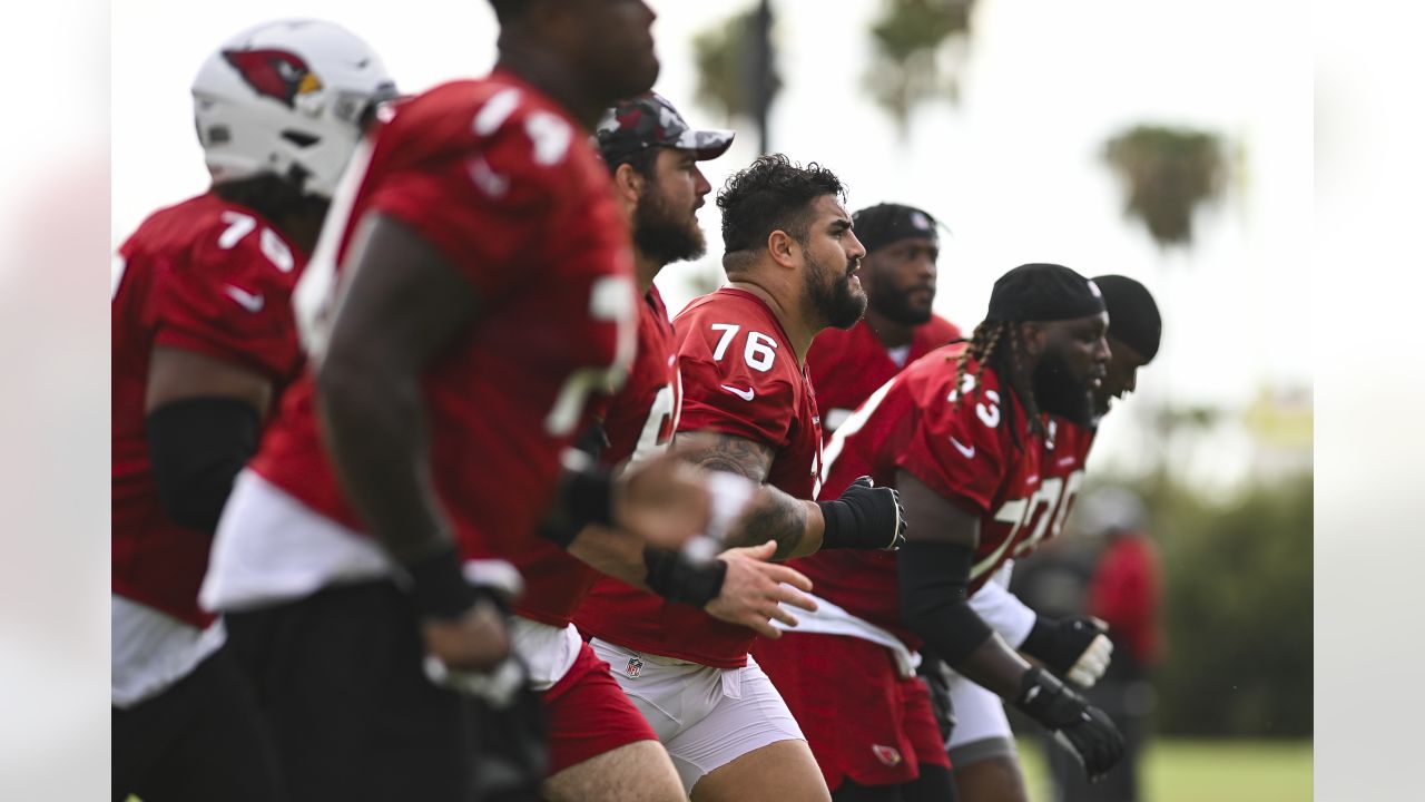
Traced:
[[956, 544], [911, 541], [901, 547], [901, 618], [956, 668], [989, 639], [990, 628], [969, 605], [973, 549]]

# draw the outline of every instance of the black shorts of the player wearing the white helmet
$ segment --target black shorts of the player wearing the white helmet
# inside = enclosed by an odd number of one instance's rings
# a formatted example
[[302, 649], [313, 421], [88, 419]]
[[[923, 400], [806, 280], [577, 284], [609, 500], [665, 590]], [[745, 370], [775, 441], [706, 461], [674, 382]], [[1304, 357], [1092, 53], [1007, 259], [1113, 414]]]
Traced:
[[117, 802], [281, 799], [276, 759], [227, 646], [133, 708], [111, 708]]

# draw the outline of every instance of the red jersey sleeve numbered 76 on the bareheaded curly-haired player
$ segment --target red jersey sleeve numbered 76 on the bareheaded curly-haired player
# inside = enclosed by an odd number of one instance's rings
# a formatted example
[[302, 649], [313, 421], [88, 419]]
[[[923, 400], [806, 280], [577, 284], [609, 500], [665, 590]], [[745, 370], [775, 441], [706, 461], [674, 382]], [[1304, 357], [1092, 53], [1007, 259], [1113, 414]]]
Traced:
[[795, 421], [789, 410], [797, 410], [799, 394], [777, 361], [792, 357], [777, 354], [775, 340], [747, 327], [701, 315], [685, 325], [694, 328], [678, 351], [678, 431], [717, 431], [784, 448]]

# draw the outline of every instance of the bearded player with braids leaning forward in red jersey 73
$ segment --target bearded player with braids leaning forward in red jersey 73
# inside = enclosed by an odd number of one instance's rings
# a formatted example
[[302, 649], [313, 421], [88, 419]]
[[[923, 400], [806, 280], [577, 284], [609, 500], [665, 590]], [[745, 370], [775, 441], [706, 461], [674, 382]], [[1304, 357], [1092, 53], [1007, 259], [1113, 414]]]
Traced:
[[915, 497], [901, 554], [794, 562], [815, 582], [818, 611], [807, 631], [757, 648], [836, 799], [953, 793], [936, 769], [945, 765], [940, 732], [912, 674], [911, 652], [922, 644], [1064, 734], [1092, 773], [1117, 758], [1112, 722], [1007, 649], [965, 601], [1043, 512], [1033, 502], [1042, 412], [1087, 417], [1089, 388], [1107, 360], [1106, 323], [1097, 290], [1079, 274], [1017, 267], [996, 281], [969, 344], [908, 367], [828, 444], [824, 494], [871, 474]]

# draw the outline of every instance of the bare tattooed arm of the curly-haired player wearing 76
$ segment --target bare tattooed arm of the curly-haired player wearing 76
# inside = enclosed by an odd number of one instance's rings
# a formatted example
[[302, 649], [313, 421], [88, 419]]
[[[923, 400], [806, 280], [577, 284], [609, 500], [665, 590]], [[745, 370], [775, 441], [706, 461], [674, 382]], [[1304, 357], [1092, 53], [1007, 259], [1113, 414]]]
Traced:
[[[731, 434], [698, 431], [680, 432], [677, 448], [688, 461], [710, 471], [728, 471], [754, 482], [767, 482], [775, 452], [772, 447]], [[728, 547], [751, 547], [777, 541], [772, 559], [805, 557], [821, 548], [825, 527], [821, 507], [801, 501], [772, 485], [762, 484], [761, 492], [748, 505], [738, 525], [728, 535]]]

